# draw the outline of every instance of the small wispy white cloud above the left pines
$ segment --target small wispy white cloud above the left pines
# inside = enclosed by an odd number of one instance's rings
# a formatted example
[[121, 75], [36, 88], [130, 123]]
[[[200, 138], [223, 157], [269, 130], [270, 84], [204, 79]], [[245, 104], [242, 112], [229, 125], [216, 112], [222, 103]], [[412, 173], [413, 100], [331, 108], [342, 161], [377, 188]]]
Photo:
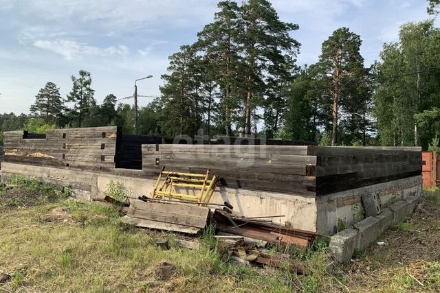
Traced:
[[54, 51], [66, 60], [77, 60], [84, 55], [115, 57], [129, 54], [129, 48], [124, 45], [100, 48], [78, 43], [74, 40], [36, 40], [34, 46]]

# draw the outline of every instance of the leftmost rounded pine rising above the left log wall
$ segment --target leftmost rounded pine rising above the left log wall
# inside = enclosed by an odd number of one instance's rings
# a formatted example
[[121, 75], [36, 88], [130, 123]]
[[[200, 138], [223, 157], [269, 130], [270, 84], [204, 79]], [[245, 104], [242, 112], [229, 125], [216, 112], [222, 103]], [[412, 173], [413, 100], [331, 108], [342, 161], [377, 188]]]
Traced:
[[35, 103], [30, 106], [30, 112], [43, 116], [45, 124], [54, 124], [63, 111], [63, 99], [60, 89], [53, 82], [47, 82], [35, 96]]

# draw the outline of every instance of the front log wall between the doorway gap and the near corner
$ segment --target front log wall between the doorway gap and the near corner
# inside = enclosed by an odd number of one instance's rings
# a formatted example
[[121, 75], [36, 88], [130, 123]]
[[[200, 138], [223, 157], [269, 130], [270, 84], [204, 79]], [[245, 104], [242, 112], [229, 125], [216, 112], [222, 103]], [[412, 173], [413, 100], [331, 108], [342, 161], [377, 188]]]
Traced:
[[206, 172], [220, 185], [314, 196], [316, 156], [296, 145], [142, 145], [144, 170]]

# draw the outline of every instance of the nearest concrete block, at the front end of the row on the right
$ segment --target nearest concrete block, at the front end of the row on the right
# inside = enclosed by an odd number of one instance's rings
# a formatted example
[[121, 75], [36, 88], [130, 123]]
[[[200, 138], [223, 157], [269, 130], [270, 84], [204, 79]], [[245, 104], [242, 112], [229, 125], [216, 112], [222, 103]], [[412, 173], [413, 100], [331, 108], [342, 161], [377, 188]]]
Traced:
[[330, 237], [330, 251], [340, 263], [350, 261], [358, 242], [358, 231], [348, 228]]

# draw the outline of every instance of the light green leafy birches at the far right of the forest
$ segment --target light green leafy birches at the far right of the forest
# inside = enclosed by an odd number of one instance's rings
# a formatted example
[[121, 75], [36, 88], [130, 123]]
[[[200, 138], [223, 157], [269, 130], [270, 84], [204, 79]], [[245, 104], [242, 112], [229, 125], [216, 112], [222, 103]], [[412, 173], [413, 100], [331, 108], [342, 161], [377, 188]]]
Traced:
[[426, 149], [439, 133], [440, 73], [419, 73], [439, 67], [439, 45], [440, 30], [432, 21], [406, 23], [399, 42], [384, 45], [374, 95], [381, 145]]

